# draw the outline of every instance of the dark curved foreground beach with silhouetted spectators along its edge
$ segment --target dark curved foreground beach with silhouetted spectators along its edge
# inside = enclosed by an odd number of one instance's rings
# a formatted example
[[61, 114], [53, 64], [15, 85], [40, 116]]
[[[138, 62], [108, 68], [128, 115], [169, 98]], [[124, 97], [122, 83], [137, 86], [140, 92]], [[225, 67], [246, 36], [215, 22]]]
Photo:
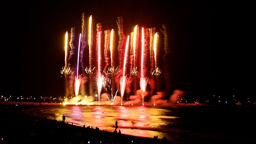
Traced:
[[115, 134], [87, 128], [87, 126], [75, 126], [25, 113], [27, 109], [33, 108], [36, 107], [34, 105], [0, 105], [1, 143], [170, 143], [161, 139], [153, 140], [153, 138]]

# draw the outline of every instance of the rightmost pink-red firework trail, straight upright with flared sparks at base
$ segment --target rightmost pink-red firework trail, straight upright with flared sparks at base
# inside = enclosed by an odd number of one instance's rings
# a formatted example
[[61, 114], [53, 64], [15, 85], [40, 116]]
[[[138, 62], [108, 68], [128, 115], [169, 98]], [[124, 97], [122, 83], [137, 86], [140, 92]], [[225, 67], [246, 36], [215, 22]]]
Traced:
[[145, 47], [144, 47], [144, 31], [142, 28], [141, 33], [141, 77], [140, 77], [140, 90], [142, 96], [142, 105], [144, 105], [144, 93], [148, 83], [148, 78], [144, 77], [144, 61], [145, 61]]

